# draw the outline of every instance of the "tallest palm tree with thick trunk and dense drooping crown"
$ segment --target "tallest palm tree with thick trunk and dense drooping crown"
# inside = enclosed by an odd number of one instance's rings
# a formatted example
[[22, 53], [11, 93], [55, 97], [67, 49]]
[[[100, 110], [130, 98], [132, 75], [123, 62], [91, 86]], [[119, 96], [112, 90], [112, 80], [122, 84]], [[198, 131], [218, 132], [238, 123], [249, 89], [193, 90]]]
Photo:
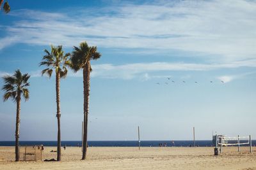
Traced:
[[90, 72], [92, 67], [90, 60], [99, 59], [101, 54], [97, 52], [97, 46], [88, 46], [86, 41], [80, 43], [79, 47], [74, 46], [71, 56], [72, 69], [75, 72], [83, 69], [84, 83], [84, 134], [83, 134], [83, 157], [86, 159], [87, 152], [87, 131], [88, 131], [88, 113], [89, 113], [89, 95], [90, 95]]

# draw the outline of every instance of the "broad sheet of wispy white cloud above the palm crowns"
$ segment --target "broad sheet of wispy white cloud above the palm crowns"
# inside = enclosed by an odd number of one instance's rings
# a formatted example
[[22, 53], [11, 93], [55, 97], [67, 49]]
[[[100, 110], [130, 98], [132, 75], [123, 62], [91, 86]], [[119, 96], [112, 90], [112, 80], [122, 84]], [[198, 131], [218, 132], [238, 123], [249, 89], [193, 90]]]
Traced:
[[255, 59], [254, 1], [160, 2], [76, 10], [77, 15], [74, 10], [13, 11], [21, 20], [6, 28], [8, 35], [0, 39], [6, 43], [0, 43], [0, 49], [14, 43], [73, 46], [86, 40], [106, 48], [180, 50], [215, 55], [214, 60]]

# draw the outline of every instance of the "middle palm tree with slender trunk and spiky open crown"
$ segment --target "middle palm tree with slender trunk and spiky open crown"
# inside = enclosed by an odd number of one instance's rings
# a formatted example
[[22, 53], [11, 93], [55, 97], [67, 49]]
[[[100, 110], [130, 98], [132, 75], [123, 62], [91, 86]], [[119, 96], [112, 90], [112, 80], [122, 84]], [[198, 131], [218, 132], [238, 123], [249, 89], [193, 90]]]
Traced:
[[57, 120], [58, 120], [58, 146], [57, 146], [57, 161], [61, 160], [61, 136], [60, 136], [60, 79], [67, 76], [68, 70], [66, 66], [70, 66], [68, 57], [70, 53], [65, 53], [62, 50], [62, 46], [52, 46], [51, 53], [48, 50], [44, 50], [46, 53], [40, 62], [40, 66], [47, 66], [42, 70], [42, 76], [47, 74], [51, 78], [52, 70], [56, 73], [56, 103], [57, 103]]

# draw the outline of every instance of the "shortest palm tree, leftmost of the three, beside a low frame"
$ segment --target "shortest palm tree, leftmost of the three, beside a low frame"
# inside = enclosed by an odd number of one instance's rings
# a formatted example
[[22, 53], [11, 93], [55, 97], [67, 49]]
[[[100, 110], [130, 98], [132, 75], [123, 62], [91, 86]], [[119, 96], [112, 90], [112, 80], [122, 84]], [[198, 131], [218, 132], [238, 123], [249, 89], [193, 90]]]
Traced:
[[19, 137], [20, 137], [20, 96], [22, 95], [25, 101], [29, 99], [29, 74], [22, 74], [18, 69], [13, 76], [4, 76], [4, 101], [12, 98], [17, 104], [16, 108], [16, 131], [15, 131], [15, 161], [19, 161]]

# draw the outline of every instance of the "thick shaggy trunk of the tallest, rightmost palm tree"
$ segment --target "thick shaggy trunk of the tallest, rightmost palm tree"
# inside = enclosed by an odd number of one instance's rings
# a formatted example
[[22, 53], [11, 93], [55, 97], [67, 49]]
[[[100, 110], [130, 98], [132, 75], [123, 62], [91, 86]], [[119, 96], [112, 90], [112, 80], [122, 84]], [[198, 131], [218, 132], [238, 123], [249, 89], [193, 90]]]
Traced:
[[86, 159], [87, 152], [87, 132], [88, 132], [88, 113], [89, 113], [89, 95], [90, 95], [90, 61], [87, 61], [83, 69], [84, 83], [84, 138], [83, 138], [83, 156]]

